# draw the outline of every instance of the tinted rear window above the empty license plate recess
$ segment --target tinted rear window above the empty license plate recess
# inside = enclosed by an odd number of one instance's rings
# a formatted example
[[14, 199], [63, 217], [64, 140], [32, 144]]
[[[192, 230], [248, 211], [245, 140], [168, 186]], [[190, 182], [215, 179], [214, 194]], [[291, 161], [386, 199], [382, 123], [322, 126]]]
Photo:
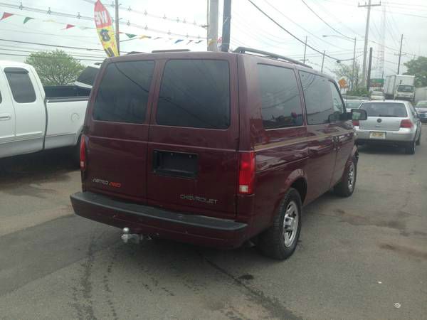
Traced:
[[230, 70], [225, 60], [169, 60], [157, 124], [210, 129], [230, 125]]

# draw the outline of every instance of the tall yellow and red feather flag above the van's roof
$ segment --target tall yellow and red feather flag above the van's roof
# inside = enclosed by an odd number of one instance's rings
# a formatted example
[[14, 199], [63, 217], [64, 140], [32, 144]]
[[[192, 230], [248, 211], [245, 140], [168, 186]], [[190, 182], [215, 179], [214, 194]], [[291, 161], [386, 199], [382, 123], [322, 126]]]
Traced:
[[117, 57], [119, 53], [115, 41], [114, 28], [112, 28], [112, 18], [100, 0], [95, 3], [95, 25], [102, 47], [107, 55], [109, 57]]

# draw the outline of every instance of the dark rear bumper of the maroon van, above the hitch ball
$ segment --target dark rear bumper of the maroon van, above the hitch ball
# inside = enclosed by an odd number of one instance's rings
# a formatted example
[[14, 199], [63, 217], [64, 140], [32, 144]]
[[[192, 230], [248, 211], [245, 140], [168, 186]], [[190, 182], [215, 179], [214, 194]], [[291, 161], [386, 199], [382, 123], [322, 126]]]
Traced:
[[70, 199], [76, 215], [117, 228], [127, 227], [131, 233], [218, 248], [240, 247], [246, 240], [246, 223], [174, 213], [91, 192], [78, 192]]

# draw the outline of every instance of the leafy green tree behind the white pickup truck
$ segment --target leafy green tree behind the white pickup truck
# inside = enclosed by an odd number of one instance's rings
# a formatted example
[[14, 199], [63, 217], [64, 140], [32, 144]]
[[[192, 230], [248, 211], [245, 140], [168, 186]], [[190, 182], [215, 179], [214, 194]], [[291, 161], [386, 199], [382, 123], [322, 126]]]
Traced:
[[31, 53], [26, 63], [32, 65], [43, 85], [70, 85], [85, 66], [63, 50]]

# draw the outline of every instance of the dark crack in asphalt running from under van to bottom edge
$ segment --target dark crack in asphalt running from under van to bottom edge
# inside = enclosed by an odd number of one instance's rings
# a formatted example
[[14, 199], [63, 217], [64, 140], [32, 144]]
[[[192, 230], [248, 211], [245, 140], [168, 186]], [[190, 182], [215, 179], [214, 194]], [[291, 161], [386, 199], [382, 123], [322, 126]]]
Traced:
[[208, 257], [204, 256], [201, 252], [197, 252], [211, 267], [214, 267], [215, 270], [225, 274], [228, 278], [232, 279], [234, 283], [238, 284], [238, 286], [245, 288], [248, 293], [251, 295], [251, 298], [263, 306], [265, 310], [270, 312], [270, 316], [272, 318], [278, 319], [302, 319], [300, 316], [296, 316], [292, 313], [292, 311], [288, 310], [277, 298], [268, 297], [264, 294], [263, 291], [255, 289], [245, 282], [243, 282], [238, 277], [235, 277], [233, 274], [228, 272], [227, 270], [220, 267], [212, 260], [209, 260]]

